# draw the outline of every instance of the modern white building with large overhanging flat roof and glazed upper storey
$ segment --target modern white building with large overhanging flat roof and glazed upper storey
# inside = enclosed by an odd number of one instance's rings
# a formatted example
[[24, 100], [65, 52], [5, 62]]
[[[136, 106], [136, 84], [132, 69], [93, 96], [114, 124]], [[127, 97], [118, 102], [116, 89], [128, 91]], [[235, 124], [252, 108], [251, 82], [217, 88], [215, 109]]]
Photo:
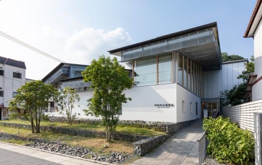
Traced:
[[[219, 110], [219, 95], [241, 83], [237, 78], [245, 70], [248, 59], [221, 62], [217, 23], [176, 32], [117, 48], [110, 54], [121, 57], [134, 85], [125, 91], [132, 101], [123, 104], [120, 120], [143, 120], [179, 123], [183, 127], [202, 118], [203, 109], [215, 116]], [[43, 82], [63, 70], [57, 66]], [[70, 64], [73, 65], [73, 64]], [[56, 75], [57, 77], [57, 75]], [[48, 82], [49, 83], [49, 82]], [[77, 88], [81, 97], [75, 109], [85, 116], [87, 99], [92, 96], [90, 83], [82, 77], [60, 77], [54, 86]], [[51, 83], [52, 84], [52, 83]], [[58, 113], [51, 113], [57, 116]]]

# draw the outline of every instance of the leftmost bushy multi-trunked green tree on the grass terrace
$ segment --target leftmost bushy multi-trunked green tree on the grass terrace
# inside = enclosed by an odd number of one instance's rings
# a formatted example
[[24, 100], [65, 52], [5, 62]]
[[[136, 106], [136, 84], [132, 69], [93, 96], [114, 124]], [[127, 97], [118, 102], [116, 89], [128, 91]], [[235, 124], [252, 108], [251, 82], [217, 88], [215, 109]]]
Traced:
[[10, 120], [23, 119], [31, 123], [32, 133], [40, 132], [40, 123], [47, 121], [48, 116], [43, 111], [48, 107], [49, 100], [58, 96], [57, 89], [42, 80], [27, 82], [17, 89], [18, 94], [8, 104], [8, 109], [17, 108], [25, 111], [24, 114], [11, 113]]

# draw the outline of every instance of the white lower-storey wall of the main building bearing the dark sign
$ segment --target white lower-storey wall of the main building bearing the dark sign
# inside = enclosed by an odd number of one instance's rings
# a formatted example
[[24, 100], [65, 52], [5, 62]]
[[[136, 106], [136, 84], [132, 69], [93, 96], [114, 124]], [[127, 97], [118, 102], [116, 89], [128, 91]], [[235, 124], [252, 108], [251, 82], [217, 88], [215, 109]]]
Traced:
[[[123, 104], [120, 120], [142, 120], [154, 122], [184, 122], [201, 118], [201, 99], [176, 83], [134, 86], [125, 91], [132, 101]], [[87, 109], [87, 99], [92, 96], [92, 91], [78, 92], [81, 97], [80, 107], [74, 112], [80, 113], [79, 118], [93, 119], [85, 116], [83, 109]], [[185, 112], [182, 112], [182, 100], [185, 101]], [[192, 113], [190, 109], [192, 102]], [[195, 105], [198, 102], [198, 116]], [[173, 104], [174, 106], [155, 106], [155, 104]], [[48, 114], [48, 113], [45, 113]], [[57, 113], [49, 113], [58, 116]]]

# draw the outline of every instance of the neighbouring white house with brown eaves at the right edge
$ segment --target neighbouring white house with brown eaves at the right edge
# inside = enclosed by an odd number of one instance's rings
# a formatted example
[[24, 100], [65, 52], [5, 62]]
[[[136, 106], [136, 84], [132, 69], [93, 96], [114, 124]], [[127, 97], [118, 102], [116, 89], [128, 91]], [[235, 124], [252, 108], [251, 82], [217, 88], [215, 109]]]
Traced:
[[262, 0], [258, 0], [244, 38], [254, 39], [255, 73], [250, 76], [246, 90], [252, 90], [252, 101], [262, 99]]

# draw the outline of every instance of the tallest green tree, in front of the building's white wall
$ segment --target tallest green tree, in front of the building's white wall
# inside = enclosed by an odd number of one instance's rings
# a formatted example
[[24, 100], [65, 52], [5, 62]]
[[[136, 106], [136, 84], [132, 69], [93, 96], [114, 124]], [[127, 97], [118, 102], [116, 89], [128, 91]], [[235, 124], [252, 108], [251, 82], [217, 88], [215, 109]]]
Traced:
[[84, 112], [86, 115], [101, 118], [106, 139], [111, 141], [112, 132], [119, 121], [117, 114], [122, 109], [122, 103], [131, 101], [124, 91], [131, 89], [132, 79], [116, 57], [111, 59], [104, 55], [99, 56], [97, 61], [93, 59], [82, 75], [84, 82], [92, 82], [90, 87], [94, 89], [92, 97], [87, 100], [88, 110]]

